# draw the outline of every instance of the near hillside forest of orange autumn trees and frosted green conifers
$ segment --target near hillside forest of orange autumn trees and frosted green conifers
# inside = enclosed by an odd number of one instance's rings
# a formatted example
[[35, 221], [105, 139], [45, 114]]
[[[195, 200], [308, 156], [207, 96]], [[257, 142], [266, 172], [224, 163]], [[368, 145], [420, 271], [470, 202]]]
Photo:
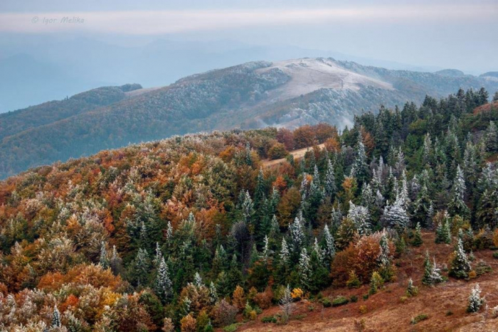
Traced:
[[[340, 133], [316, 124], [175, 136], [8, 178], [0, 330], [284, 326], [300, 319], [301, 299], [358, 301], [331, 289], [367, 284], [364, 300], [385, 299], [403, 260], [423, 269], [403, 284], [403, 302], [444, 283], [491, 283], [476, 259], [498, 247], [498, 109], [474, 112], [486, 103], [484, 90], [459, 90], [366, 112]], [[302, 159], [263, 167], [306, 147]], [[410, 256], [421, 245], [433, 250], [423, 262]], [[461, 315], [484, 311], [472, 287]], [[496, 296], [486, 305], [496, 319]]]

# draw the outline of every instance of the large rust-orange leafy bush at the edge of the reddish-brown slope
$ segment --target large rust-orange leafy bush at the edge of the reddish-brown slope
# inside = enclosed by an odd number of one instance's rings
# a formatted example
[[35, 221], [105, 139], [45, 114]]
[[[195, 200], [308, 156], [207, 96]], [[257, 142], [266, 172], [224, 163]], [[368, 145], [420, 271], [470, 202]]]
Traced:
[[[344, 286], [351, 270], [356, 272], [361, 282], [370, 280], [371, 274], [381, 267], [379, 262], [381, 237], [381, 232], [361, 237], [358, 242], [351, 243], [345, 250], [337, 253], [332, 262], [331, 272], [335, 285]], [[390, 251], [388, 258], [392, 259], [395, 250], [391, 240], [388, 240], [388, 247]]]

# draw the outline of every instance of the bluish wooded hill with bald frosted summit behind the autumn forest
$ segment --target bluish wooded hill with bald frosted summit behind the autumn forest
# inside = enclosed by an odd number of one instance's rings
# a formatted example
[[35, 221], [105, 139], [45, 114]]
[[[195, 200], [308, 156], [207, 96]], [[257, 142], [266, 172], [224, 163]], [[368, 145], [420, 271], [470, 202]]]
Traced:
[[76, 95], [6, 114], [15, 121], [1, 124], [7, 132], [0, 144], [0, 176], [176, 134], [319, 122], [344, 127], [355, 114], [375, 112], [378, 105], [394, 107], [480, 87], [492, 93], [498, 82], [302, 58], [211, 70], [157, 89], [97, 89], [90, 95], [102, 97], [91, 101]]

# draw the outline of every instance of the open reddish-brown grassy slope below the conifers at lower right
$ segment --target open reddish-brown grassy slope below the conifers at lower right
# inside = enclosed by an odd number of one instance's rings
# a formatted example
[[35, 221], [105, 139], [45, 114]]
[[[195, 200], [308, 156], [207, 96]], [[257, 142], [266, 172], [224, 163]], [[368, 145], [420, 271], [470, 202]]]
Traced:
[[[275, 306], [263, 311], [257, 321], [244, 323], [237, 331], [356, 331], [354, 321], [364, 319], [366, 331], [498, 331], [498, 318], [482, 320], [481, 310], [478, 314], [467, 314], [467, 298], [470, 289], [476, 283], [480, 284], [482, 294], [486, 296], [489, 310], [498, 306], [498, 259], [492, 257], [491, 250], [475, 252], [476, 260], [484, 259], [491, 265], [493, 272], [484, 274], [468, 282], [450, 278], [449, 282], [437, 287], [425, 287], [420, 283], [423, 274], [423, 259], [425, 250], [439, 265], [447, 263], [447, 257], [453, 250], [453, 245], [435, 245], [434, 233], [423, 234], [424, 243], [421, 247], [409, 247], [409, 252], [396, 260], [398, 264], [397, 281], [386, 284], [385, 289], [378, 294], [363, 300], [363, 295], [369, 291], [369, 285], [360, 289], [333, 289], [323, 291], [324, 296], [358, 296], [356, 303], [335, 308], [324, 308], [319, 303], [300, 301], [290, 322], [285, 325], [262, 323], [263, 316], [270, 316], [280, 312]], [[474, 266], [475, 262], [472, 264]], [[419, 288], [418, 296], [401, 303], [401, 296], [405, 296], [408, 278]], [[313, 305], [314, 310], [309, 311]], [[366, 314], [360, 314], [359, 307], [366, 306]], [[447, 316], [447, 312], [453, 314]], [[416, 325], [410, 323], [411, 318], [419, 314], [427, 314], [429, 318]], [[297, 318], [299, 319], [297, 319]]]

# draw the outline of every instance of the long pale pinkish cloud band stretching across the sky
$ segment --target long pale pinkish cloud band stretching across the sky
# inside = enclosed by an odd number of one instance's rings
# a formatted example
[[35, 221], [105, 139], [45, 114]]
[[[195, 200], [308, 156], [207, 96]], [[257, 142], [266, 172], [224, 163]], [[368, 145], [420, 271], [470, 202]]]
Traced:
[[483, 21], [495, 19], [494, 4], [425, 6], [360, 6], [322, 9], [70, 11], [0, 14], [0, 32], [51, 33], [86, 31], [159, 35], [216, 31], [252, 26], [327, 23], [409, 23], [420, 21]]

